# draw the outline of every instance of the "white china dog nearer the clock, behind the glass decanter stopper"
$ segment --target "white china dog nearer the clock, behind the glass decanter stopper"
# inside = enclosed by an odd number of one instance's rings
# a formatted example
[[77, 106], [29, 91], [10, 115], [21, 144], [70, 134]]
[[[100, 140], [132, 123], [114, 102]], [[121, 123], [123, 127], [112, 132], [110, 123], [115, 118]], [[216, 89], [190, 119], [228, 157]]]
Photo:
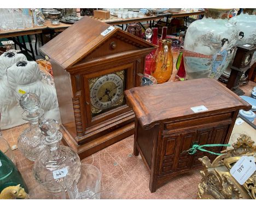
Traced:
[[22, 93], [35, 93], [40, 99], [44, 117], [60, 121], [59, 106], [54, 87], [42, 82], [42, 75], [36, 62], [21, 61], [7, 69], [7, 81], [14, 91], [16, 100]]

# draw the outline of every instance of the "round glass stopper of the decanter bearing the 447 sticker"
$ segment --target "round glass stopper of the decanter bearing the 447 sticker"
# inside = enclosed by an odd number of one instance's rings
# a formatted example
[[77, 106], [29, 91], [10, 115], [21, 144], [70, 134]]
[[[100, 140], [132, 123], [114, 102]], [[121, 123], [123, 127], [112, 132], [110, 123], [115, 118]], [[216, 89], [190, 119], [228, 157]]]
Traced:
[[59, 130], [59, 124], [54, 119], [44, 119], [39, 121], [39, 127], [44, 136], [53, 137]]

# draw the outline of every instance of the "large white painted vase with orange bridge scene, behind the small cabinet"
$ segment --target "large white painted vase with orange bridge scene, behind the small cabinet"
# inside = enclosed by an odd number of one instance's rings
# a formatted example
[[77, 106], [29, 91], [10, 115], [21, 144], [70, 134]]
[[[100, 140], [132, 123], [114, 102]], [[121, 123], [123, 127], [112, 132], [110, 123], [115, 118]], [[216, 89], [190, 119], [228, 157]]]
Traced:
[[218, 79], [229, 65], [237, 42], [237, 30], [229, 23], [231, 9], [205, 9], [202, 20], [191, 23], [184, 41], [184, 65], [188, 79]]

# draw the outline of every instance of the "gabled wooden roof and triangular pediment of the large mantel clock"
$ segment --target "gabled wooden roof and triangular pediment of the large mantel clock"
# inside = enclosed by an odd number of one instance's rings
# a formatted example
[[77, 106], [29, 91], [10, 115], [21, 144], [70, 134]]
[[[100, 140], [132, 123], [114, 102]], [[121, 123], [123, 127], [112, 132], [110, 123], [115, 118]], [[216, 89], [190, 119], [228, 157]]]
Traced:
[[[108, 32], [104, 33], [106, 31]], [[145, 49], [150, 52], [155, 47], [155, 45], [119, 28], [84, 16], [47, 42], [40, 48], [40, 51], [61, 65], [63, 69], [68, 69], [94, 58], [107, 58], [109, 55], [123, 52], [138, 53]]]

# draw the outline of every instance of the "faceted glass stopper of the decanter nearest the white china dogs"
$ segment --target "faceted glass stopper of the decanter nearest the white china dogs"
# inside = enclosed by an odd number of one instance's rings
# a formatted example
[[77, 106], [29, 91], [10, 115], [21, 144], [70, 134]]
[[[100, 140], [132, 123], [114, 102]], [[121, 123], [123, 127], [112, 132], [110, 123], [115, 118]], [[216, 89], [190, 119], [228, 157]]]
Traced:
[[39, 97], [34, 93], [25, 93], [20, 97], [20, 106], [28, 112], [35, 112], [40, 106]]

